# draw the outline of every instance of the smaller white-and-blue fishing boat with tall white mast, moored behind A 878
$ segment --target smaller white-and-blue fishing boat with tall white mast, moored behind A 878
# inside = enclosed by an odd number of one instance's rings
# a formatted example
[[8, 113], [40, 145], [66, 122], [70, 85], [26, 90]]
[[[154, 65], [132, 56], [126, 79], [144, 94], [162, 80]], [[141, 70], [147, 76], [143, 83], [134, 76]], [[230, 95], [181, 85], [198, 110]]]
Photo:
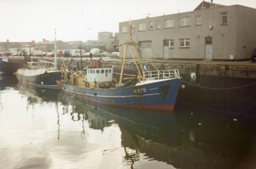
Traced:
[[27, 62], [25, 67], [19, 68], [16, 72], [18, 81], [36, 87], [57, 88], [56, 81], [61, 79], [62, 73], [57, 69], [56, 33], [54, 46], [54, 63], [44, 60]]

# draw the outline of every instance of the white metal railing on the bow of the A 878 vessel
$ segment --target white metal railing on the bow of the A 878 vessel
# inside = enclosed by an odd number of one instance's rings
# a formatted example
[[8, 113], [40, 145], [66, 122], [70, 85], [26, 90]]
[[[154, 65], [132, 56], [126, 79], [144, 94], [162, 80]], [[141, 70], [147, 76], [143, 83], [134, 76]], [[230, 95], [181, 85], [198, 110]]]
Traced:
[[143, 71], [145, 80], [180, 78], [178, 69]]

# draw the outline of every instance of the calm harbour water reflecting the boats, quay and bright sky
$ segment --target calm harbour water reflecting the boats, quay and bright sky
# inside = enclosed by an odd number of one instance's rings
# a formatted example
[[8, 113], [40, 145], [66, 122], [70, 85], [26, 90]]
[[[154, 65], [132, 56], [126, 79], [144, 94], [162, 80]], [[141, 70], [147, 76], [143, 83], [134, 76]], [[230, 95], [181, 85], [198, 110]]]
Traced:
[[14, 77], [0, 87], [1, 168], [256, 168], [255, 85], [188, 85], [171, 114], [88, 105]]

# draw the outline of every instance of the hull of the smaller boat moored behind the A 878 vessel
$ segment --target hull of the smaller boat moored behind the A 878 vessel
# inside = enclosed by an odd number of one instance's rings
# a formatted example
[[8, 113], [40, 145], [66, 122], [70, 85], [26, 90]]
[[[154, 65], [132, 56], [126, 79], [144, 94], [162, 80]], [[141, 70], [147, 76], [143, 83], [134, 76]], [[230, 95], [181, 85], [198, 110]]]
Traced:
[[54, 72], [48, 74], [41, 74], [37, 76], [23, 76], [20, 74], [16, 75], [17, 79], [21, 83], [36, 87], [52, 87], [57, 88], [57, 80], [61, 79], [61, 72]]

